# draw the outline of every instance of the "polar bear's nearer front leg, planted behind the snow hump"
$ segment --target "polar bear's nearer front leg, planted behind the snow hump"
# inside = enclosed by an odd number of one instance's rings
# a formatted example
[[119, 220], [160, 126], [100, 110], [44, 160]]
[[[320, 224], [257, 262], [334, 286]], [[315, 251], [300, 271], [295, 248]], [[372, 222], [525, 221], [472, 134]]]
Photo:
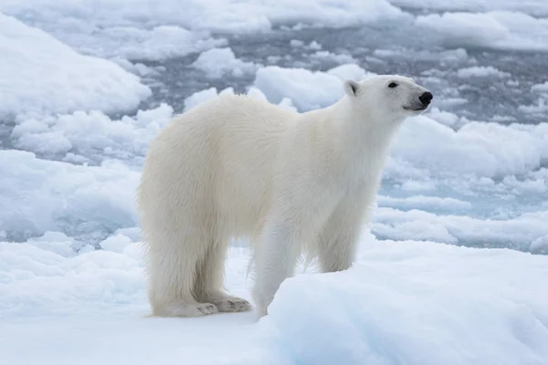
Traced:
[[256, 278], [253, 298], [258, 318], [268, 314], [270, 302], [287, 277], [293, 276], [300, 245], [296, 229], [290, 222], [279, 220], [267, 224], [262, 242], [256, 248]]

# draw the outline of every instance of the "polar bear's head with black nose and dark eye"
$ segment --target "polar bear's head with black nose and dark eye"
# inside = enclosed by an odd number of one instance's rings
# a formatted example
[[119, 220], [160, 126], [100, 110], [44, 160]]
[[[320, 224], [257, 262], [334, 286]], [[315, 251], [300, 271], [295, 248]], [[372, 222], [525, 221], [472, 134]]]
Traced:
[[433, 98], [412, 78], [398, 75], [378, 75], [359, 82], [347, 80], [344, 90], [354, 111], [380, 121], [402, 121], [418, 115], [427, 110]]

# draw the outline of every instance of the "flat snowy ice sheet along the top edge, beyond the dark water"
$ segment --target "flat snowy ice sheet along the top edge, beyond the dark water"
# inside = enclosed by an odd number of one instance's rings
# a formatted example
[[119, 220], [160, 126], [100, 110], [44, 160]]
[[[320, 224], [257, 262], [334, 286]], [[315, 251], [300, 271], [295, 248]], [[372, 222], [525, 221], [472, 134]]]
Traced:
[[184, 56], [222, 42], [210, 31], [264, 32], [300, 22], [360, 26], [403, 16], [385, 0], [163, 0], [161, 6], [153, 0], [2, 0], [0, 12], [24, 18], [85, 53], [137, 58]]

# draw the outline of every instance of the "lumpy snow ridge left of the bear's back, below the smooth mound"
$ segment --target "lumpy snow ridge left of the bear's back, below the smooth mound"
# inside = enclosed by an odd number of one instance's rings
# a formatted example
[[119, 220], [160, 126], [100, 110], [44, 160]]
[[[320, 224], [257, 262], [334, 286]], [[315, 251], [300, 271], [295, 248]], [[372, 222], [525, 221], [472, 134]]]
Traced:
[[120, 120], [111, 120], [98, 110], [21, 118], [11, 137], [19, 149], [68, 162], [100, 163], [114, 158], [131, 161], [142, 159], [149, 142], [167, 124], [173, 111], [162, 103]]

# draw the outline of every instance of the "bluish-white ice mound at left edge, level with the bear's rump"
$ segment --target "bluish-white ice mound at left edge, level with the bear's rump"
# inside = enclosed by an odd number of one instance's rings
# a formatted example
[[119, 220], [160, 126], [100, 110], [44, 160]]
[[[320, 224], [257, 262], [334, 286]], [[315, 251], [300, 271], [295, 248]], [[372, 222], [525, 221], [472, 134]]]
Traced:
[[0, 232], [8, 240], [61, 230], [93, 240], [136, 225], [140, 173], [121, 162], [74, 165], [7, 150], [0, 171]]

